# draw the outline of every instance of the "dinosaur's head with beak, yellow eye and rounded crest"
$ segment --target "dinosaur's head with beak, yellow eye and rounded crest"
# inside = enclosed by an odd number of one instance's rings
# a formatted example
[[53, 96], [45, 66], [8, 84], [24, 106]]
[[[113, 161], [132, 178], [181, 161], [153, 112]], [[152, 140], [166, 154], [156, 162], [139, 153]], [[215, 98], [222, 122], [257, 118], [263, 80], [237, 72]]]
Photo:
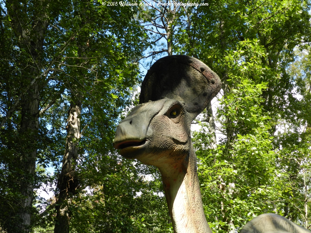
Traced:
[[142, 82], [140, 104], [118, 125], [114, 147], [125, 158], [157, 167], [184, 160], [190, 124], [220, 88], [220, 78], [196, 58], [159, 59]]

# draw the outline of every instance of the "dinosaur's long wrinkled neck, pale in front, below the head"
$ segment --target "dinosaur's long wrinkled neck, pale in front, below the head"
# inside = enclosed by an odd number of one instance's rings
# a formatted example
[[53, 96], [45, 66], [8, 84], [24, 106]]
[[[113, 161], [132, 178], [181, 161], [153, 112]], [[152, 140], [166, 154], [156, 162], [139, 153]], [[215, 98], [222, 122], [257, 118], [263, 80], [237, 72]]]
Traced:
[[184, 161], [176, 164], [174, 160], [160, 168], [165, 197], [174, 233], [211, 233], [204, 215], [192, 143], [190, 148]]

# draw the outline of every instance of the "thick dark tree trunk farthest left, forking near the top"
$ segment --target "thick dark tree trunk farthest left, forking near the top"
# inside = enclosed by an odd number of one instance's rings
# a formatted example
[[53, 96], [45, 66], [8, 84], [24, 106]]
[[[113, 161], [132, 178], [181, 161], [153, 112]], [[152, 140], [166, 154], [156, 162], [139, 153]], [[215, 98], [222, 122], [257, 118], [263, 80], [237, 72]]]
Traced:
[[[20, 48], [25, 49], [32, 59], [26, 61], [22, 76], [25, 86], [41, 72], [44, 36], [49, 25], [49, 4], [45, 0], [35, 2], [36, 10], [28, 12], [19, 2], [7, 0], [7, 12], [11, 18], [14, 34], [20, 41]], [[33, 15], [32, 15], [33, 14]], [[34, 20], [27, 22], [29, 17]], [[31, 25], [31, 26], [29, 26]], [[23, 86], [21, 87], [21, 91]], [[39, 85], [34, 83], [21, 97], [21, 127], [19, 139], [21, 141], [21, 159], [17, 166], [21, 169], [19, 182], [22, 198], [16, 200], [20, 205], [19, 229], [21, 232], [30, 231], [30, 210], [32, 208], [35, 166], [37, 155], [37, 140], [39, 129]]]

